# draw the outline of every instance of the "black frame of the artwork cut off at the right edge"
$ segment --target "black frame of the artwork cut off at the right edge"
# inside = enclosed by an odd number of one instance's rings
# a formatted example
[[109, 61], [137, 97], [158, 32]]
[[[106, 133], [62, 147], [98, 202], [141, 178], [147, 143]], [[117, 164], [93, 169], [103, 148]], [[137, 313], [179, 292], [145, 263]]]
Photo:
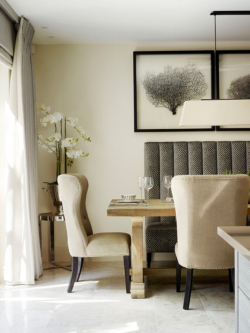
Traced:
[[[219, 57], [221, 54], [249, 54], [250, 50], [216, 50], [216, 98], [220, 98], [220, 65], [219, 65]], [[216, 131], [250, 131], [249, 128], [237, 128], [237, 127], [230, 127], [230, 128], [222, 128], [220, 126], [216, 126]]]

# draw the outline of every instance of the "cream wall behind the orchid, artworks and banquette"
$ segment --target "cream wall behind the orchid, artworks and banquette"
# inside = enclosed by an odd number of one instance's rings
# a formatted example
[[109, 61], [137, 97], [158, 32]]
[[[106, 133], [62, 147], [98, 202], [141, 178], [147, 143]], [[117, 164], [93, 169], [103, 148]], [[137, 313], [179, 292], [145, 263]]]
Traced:
[[[87, 209], [94, 232], [131, 233], [129, 217], [107, 217], [111, 198], [136, 193], [144, 174], [147, 141], [249, 140], [250, 132], [134, 133], [133, 51], [209, 50], [213, 44], [89, 44], [37, 45], [33, 55], [37, 103], [77, 117], [91, 143], [78, 143], [89, 156], [76, 160], [68, 173], [83, 173], [89, 181]], [[250, 43], [223, 44], [221, 49], [249, 49]], [[38, 115], [40, 118], [40, 115]], [[50, 135], [53, 127], [38, 132]], [[80, 141], [80, 140], [79, 140]], [[39, 148], [39, 212], [51, 211], [42, 182], [55, 180], [54, 154]], [[48, 260], [48, 227], [43, 222], [43, 260]], [[56, 259], [67, 260], [64, 224], [55, 226]], [[144, 251], [145, 252], [145, 251]], [[173, 258], [155, 254], [153, 259]], [[121, 259], [121, 258], [118, 258]]]

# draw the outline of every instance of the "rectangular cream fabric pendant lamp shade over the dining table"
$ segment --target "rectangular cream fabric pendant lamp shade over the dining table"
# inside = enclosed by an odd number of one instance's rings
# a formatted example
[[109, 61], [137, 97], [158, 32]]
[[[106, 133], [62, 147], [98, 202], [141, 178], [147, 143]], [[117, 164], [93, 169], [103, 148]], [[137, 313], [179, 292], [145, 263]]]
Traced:
[[179, 126], [250, 125], [250, 100], [186, 101]]

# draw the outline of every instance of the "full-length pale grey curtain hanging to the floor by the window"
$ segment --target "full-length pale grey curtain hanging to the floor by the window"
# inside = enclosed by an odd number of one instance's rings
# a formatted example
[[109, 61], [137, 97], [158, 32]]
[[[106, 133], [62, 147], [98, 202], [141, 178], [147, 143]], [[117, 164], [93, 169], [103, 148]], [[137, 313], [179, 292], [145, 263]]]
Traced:
[[[21, 18], [10, 78], [6, 251], [8, 284], [34, 284], [42, 274], [38, 233], [38, 146], [32, 25]], [[8, 136], [8, 133], [7, 133]], [[10, 162], [9, 162], [10, 161]]]

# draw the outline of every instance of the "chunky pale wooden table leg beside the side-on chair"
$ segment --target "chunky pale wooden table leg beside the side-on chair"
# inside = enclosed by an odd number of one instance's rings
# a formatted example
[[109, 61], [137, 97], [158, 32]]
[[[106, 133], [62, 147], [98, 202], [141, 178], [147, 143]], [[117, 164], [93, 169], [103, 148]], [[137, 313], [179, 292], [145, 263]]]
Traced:
[[143, 278], [143, 217], [132, 216], [132, 266], [131, 298], [145, 298]]

